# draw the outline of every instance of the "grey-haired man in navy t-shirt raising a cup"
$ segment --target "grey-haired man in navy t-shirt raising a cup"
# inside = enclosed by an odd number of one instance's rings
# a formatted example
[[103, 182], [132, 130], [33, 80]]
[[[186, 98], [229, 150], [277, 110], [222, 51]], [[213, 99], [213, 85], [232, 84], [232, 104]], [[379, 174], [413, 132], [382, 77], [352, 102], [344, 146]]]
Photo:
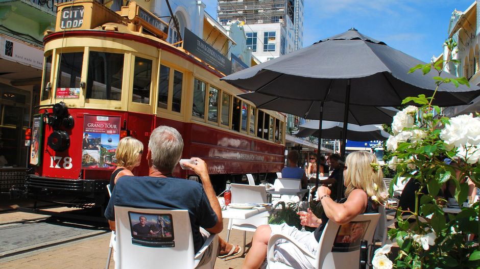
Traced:
[[200, 231], [201, 227], [210, 233], [222, 231], [222, 210], [210, 182], [205, 162], [200, 158], [193, 158], [197, 161], [195, 164], [184, 164], [200, 176], [203, 186], [193, 180], [172, 177], [182, 151], [183, 139], [176, 129], [159, 126], [152, 131], [147, 153], [149, 175], [118, 178], [105, 210], [105, 217], [110, 223], [110, 229], [115, 230], [114, 206], [120, 205], [139, 208], [187, 209], [190, 215], [195, 252], [200, 249], [208, 236]]

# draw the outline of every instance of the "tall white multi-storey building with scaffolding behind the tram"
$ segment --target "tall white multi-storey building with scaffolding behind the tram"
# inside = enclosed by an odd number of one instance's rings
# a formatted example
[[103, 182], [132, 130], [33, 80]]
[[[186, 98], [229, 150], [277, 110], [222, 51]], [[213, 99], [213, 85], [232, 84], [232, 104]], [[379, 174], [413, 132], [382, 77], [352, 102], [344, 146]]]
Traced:
[[218, 20], [245, 22], [247, 45], [265, 62], [303, 47], [303, 0], [219, 0]]

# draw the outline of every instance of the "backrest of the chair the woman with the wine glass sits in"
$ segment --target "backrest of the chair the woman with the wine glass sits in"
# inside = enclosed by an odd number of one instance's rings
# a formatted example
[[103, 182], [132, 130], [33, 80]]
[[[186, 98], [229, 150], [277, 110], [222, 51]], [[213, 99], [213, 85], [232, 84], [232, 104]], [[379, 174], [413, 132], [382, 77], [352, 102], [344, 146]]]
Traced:
[[[329, 221], [320, 237], [316, 268], [358, 268], [360, 241], [367, 240], [371, 244], [379, 218], [380, 214], [375, 213], [360, 214], [344, 225]], [[361, 231], [363, 236], [351, 241], [352, 231]]]

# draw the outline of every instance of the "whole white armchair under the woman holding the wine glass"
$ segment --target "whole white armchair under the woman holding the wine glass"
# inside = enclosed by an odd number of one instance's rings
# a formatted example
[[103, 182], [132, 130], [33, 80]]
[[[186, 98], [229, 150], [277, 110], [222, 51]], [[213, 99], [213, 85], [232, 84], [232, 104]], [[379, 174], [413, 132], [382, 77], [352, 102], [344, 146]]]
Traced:
[[[379, 213], [360, 214], [349, 224], [354, 222], [360, 223], [365, 231], [362, 237], [363, 240], [367, 240], [368, 243], [371, 243], [379, 218]], [[320, 237], [318, 250], [314, 255], [312, 255], [309, 250], [304, 249], [302, 244], [299, 244], [294, 238], [282, 234], [272, 235], [267, 247], [268, 268], [293, 268], [290, 265], [280, 262], [275, 257], [275, 243], [280, 239], [285, 239], [287, 241], [287, 243], [282, 243], [282, 245], [293, 244], [295, 248], [305, 255], [308, 262], [310, 262], [316, 269], [358, 268], [360, 262], [360, 240], [352, 243], [341, 243], [341, 238], [343, 238], [342, 234], [346, 230], [349, 230], [349, 224], [339, 225], [333, 221], [328, 221]]]

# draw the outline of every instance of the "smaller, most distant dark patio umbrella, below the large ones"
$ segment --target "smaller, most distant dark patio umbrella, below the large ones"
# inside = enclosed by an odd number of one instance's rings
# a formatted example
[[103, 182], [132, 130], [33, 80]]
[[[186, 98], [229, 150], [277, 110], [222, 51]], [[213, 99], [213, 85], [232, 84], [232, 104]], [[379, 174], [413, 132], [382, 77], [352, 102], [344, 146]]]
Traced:
[[[314, 136], [319, 137], [318, 120], [309, 121], [299, 126], [297, 137]], [[390, 134], [377, 125], [363, 125], [348, 124], [347, 139], [353, 141], [369, 141], [369, 140], [386, 140]], [[322, 138], [339, 139], [342, 137], [343, 122], [338, 121], [323, 121], [322, 122]]]

